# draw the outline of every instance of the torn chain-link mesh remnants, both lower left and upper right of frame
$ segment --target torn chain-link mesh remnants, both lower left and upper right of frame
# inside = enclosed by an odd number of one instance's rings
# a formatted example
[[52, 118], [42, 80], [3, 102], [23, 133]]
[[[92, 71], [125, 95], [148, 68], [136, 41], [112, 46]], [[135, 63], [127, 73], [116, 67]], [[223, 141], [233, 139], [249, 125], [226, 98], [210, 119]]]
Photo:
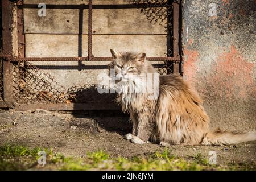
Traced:
[[[144, 3], [141, 9], [151, 23], [166, 27], [167, 52], [172, 56], [172, 6], [167, 0], [131, 1]], [[140, 6], [141, 7], [141, 6]], [[160, 75], [173, 72], [172, 61], [159, 61], [155, 66]], [[1, 78], [1, 77], [0, 77]], [[0, 82], [1, 84], [1, 82]], [[14, 100], [17, 103], [102, 103], [113, 102], [115, 94], [98, 93], [97, 84], [75, 85], [65, 88], [53, 76], [30, 62], [19, 62], [13, 66]], [[1, 88], [0, 88], [1, 91]]]

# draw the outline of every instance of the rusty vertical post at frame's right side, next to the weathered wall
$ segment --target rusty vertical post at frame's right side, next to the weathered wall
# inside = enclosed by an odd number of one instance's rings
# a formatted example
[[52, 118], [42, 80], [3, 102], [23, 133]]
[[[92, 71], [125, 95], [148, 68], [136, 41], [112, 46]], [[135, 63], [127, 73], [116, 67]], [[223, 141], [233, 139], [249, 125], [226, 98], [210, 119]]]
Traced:
[[[179, 52], [179, 13], [180, 13], [180, 5], [179, 1], [172, 3], [173, 9], [173, 55], [177, 57], [180, 55]], [[174, 73], [179, 73], [179, 64], [174, 63]]]

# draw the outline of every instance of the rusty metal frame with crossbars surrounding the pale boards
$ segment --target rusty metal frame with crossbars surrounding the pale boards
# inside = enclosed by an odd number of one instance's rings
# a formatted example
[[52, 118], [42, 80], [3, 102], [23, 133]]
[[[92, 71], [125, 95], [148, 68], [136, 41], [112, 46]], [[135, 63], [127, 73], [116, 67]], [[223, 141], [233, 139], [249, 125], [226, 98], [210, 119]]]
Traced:
[[[173, 63], [173, 71], [174, 73], [180, 73], [182, 75], [183, 69], [181, 68], [183, 63], [182, 58], [182, 47], [181, 47], [181, 0], [177, 1], [168, 1], [173, 6], [173, 39], [172, 39], [172, 47], [173, 54], [171, 57], [147, 57], [149, 61], [171, 61]], [[12, 105], [16, 110], [29, 110], [29, 109], [46, 109], [46, 110], [104, 110], [108, 108], [108, 110], [116, 110], [118, 109], [115, 105], [102, 106], [102, 104], [86, 104], [86, 103], [73, 103], [73, 104], [59, 104], [59, 103], [39, 103], [39, 104], [13, 104], [13, 84], [12, 84], [12, 65], [13, 63], [19, 63], [21, 61], [78, 61], [81, 64], [81, 61], [111, 61], [112, 57], [94, 57], [92, 55], [92, 11], [93, 6], [101, 6], [101, 5], [93, 5], [93, 0], [89, 0], [88, 5], [74, 5], [74, 9], [87, 9], [88, 8], [88, 56], [81, 57], [81, 53], [79, 57], [26, 57], [25, 55], [25, 36], [23, 30], [23, 0], [17, 0], [16, 5], [17, 9], [17, 23], [18, 23], [18, 57], [12, 55], [12, 36], [10, 28], [3, 28], [3, 53], [0, 54], [0, 59], [3, 61], [3, 69], [4, 69], [4, 101], [0, 102], [1, 107], [11, 107]], [[2, 13], [3, 13], [3, 27], [10, 26], [12, 24], [11, 19], [11, 9], [10, 9], [10, 0], [2, 0]], [[3, 7], [8, 6], [8, 9]], [[54, 5], [51, 5], [52, 8]], [[51, 6], [49, 8], [51, 8]], [[142, 6], [142, 5], [141, 5]], [[144, 6], [144, 5], [143, 5]], [[36, 6], [31, 5], [32, 8], [36, 8]], [[133, 6], [138, 7], [138, 6]], [[65, 8], [65, 6], [61, 6], [61, 8]], [[101, 8], [101, 7], [99, 7]], [[122, 6], [122, 8], [127, 8]], [[79, 32], [79, 35], [82, 32]]]

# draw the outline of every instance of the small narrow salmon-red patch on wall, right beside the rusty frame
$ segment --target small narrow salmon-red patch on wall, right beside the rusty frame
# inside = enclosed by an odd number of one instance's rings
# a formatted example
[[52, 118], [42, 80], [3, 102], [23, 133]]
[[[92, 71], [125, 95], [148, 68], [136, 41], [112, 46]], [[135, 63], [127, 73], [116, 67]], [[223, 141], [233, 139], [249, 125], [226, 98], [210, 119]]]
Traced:
[[195, 86], [196, 62], [199, 61], [199, 53], [195, 50], [184, 49], [184, 77], [192, 86]]

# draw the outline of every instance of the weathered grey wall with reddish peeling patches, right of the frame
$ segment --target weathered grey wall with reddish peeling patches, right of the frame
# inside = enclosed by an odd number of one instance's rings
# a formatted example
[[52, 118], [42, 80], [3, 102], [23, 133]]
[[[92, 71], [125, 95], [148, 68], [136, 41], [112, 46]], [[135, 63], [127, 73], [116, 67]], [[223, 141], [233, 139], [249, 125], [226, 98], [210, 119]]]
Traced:
[[256, 2], [185, 0], [183, 10], [184, 79], [203, 98], [212, 126], [255, 130]]

